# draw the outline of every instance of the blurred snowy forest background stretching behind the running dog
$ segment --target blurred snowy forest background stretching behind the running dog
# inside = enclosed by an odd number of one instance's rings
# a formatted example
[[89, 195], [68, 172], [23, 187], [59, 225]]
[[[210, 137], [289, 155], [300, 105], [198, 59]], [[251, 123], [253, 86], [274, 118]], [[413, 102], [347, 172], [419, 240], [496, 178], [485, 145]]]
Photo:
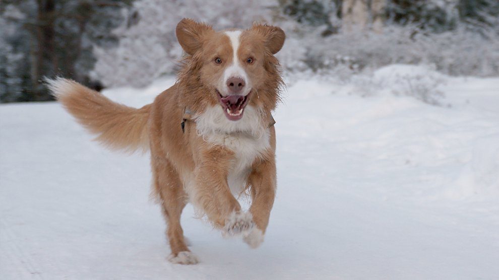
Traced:
[[497, 0], [1, 0], [0, 101], [51, 100], [43, 77], [91, 88], [172, 75], [183, 17], [216, 29], [267, 22], [287, 34], [286, 75], [349, 79], [392, 63], [499, 75]]

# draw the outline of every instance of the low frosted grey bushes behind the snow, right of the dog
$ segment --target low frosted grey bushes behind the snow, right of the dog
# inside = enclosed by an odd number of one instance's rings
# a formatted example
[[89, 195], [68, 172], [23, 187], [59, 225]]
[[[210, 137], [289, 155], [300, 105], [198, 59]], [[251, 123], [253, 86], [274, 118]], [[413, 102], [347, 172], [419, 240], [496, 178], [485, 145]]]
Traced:
[[[326, 38], [288, 33], [281, 61], [287, 71], [349, 76], [392, 63], [428, 64], [453, 76], [499, 74], [499, 36], [487, 38], [466, 27], [423, 33], [412, 26], [388, 26], [383, 33], [340, 33]], [[291, 43], [289, 42], [291, 41]], [[299, 61], [295, 61], [299, 60]], [[301, 67], [296, 67], [300, 65]]]

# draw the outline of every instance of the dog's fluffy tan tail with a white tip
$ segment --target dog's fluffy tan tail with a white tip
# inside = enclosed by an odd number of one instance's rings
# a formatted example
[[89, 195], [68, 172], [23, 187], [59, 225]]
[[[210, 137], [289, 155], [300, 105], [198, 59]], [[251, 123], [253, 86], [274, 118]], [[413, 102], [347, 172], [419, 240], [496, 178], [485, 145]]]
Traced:
[[110, 149], [129, 152], [149, 148], [148, 120], [151, 105], [140, 109], [115, 103], [75, 81], [46, 79], [54, 97], [83, 126], [97, 134], [96, 140]]

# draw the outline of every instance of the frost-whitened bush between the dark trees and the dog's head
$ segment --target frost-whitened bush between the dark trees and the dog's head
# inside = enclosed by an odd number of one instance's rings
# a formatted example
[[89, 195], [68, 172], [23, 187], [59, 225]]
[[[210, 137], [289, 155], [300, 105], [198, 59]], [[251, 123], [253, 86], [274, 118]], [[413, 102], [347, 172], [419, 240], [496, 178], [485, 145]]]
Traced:
[[147, 85], [177, 69], [182, 50], [175, 26], [182, 18], [206, 22], [215, 29], [248, 28], [254, 21], [269, 22], [275, 5], [265, 0], [137, 1], [130, 15], [138, 23], [124, 23], [113, 32], [120, 38], [119, 45], [95, 48], [98, 60], [92, 77], [106, 86]]

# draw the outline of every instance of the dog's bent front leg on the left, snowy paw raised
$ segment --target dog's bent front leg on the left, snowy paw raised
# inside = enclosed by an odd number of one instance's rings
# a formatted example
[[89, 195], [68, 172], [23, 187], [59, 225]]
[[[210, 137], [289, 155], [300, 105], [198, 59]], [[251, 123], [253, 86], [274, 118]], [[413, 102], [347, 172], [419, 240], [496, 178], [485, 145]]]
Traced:
[[197, 154], [195, 184], [190, 195], [215, 227], [225, 236], [246, 234], [253, 229], [251, 214], [242, 213], [241, 205], [230, 192], [227, 174], [234, 153], [218, 146]]

